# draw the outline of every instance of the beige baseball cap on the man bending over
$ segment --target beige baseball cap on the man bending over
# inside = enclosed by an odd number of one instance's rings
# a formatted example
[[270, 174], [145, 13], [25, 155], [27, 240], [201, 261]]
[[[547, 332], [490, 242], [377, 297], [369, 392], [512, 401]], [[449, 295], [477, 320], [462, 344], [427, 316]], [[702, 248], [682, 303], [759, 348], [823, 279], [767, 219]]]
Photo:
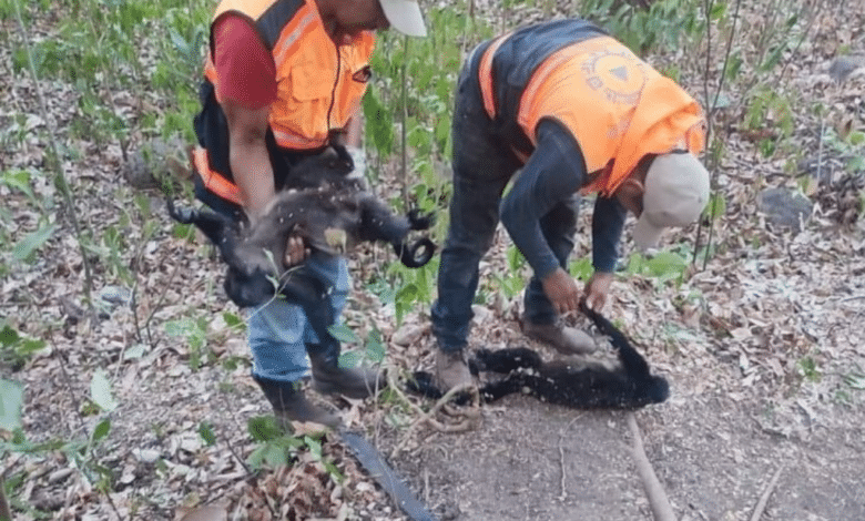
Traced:
[[709, 203], [709, 172], [689, 152], [672, 152], [652, 160], [645, 174], [643, 213], [633, 241], [642, 251], [658, 246], [663, 229], [695, 222]]

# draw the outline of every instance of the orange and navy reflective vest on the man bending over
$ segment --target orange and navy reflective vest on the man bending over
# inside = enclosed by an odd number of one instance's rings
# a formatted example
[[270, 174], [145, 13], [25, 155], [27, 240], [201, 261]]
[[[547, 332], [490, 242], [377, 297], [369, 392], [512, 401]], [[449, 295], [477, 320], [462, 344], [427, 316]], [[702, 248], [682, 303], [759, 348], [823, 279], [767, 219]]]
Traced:
[[[509, 67], [511, 61], [516, 63]], [[487, 114], [506, 139], [528, 139], [533, 149], [543, 119], [558, 121], [573, 135], [587, 172], [597, 174], [583, 193], [612, 195], [648, 154], [682, 147], [696, 154], [704, 146], [699, 104], [583, 20], [541, 23], [500, 37], [481, 55], [478, 79]], [[515, 152], [525, 160], [531, 151], [526, 149], [515, 146]]]

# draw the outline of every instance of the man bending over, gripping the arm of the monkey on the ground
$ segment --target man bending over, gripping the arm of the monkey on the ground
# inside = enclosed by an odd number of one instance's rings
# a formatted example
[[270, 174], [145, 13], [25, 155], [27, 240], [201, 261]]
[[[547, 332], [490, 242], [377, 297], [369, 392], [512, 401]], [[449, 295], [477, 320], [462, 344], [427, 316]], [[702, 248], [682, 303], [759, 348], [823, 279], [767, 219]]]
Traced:
[[[627, 212], [638, 216], [634, 242], [648, 248], [663, 228], [696, 221], [708, 202], [709, 174], [695, 157], [704, 141], [698, 103], [584, 20], [478, 45], [458, 80], [452, 134], [450, 228], [431, 313], [445, 389], [471, 384], [464, 355], [471, 303], [499, 218], [535, 272], [523, 333], [580, 354], [593, 341], [560, 316], [583, 297], [594, 309], [604, 305]], [[581, 292], [566, 267], [579, 196], [590, 193], [598, 194], [594, 274]]]

